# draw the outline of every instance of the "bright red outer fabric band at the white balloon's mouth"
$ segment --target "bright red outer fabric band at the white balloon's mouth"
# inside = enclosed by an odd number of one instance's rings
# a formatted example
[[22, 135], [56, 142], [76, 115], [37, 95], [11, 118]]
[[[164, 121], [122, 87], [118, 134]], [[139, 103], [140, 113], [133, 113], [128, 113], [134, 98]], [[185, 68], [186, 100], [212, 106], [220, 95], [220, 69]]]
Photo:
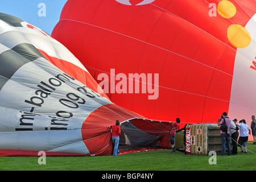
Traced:
[[94, 110], [82, 123], [82, 140], [90, 154], [110, 155], [113, 150], [110, 125], [134, 117], [142, 117], [115, 104], [102, 105]]

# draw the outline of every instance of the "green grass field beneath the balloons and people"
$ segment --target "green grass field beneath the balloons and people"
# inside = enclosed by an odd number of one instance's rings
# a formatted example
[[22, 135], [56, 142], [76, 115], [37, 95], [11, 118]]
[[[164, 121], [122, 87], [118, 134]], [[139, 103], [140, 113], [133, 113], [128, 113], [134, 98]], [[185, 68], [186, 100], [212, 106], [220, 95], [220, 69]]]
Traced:
[[[247, 144], [256, 153], [256, 145]], [[8, 171], [256, 171], [256, 154], [217, 155], [217, 164], [209, 164], [210, 156], [185, 155], [170, 150], [136, 152], [119, 156], [1, 157], [0, 170]]]

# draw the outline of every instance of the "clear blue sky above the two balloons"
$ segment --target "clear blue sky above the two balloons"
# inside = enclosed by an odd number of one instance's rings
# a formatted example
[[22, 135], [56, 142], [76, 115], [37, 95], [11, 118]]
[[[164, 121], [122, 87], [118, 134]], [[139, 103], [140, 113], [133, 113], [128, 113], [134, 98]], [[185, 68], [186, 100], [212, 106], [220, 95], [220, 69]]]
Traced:
[[[17, 16], [51, 35], [66, 2], [67, 0], [1, 0], [0, 12]], [[45, 9], [39, 6], [40, 3], [44, 3]], [[46, 16], [39, 16], [38, 12], [40, 15], [45, 12]]]

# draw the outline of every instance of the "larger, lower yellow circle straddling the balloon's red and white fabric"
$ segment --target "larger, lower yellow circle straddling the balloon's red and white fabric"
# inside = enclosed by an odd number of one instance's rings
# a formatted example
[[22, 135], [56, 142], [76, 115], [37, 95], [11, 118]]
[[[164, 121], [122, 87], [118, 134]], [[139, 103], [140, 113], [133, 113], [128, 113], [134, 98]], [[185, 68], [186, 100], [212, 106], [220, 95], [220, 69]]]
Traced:
[[240, 24], [232, 24], [228, 27], [228, 39], [237, 48], [245, 48], [251, 43], [249, 32]]

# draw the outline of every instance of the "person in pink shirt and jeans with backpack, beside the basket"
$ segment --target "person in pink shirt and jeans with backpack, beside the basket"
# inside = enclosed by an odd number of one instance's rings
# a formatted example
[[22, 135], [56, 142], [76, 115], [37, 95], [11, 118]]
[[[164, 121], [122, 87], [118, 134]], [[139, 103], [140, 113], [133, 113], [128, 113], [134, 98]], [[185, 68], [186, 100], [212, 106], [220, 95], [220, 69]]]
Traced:
[[[223, 119], [221, 119], [223, 118]], [[230, 147], [230, 123], [231, 119], [228, 118], [228, 114], [226, 112], [222, 113], [221, 117], [218, 119], [218, 126], [222, 125], [222, 123], [226, 123], [228, 126], [228, 130], [226, 132], [220, 130], [221, 133], [221, 155], [226, 154], [226, 147], [228, 148], [228, 155], [231, 155], [231, 147]]]

